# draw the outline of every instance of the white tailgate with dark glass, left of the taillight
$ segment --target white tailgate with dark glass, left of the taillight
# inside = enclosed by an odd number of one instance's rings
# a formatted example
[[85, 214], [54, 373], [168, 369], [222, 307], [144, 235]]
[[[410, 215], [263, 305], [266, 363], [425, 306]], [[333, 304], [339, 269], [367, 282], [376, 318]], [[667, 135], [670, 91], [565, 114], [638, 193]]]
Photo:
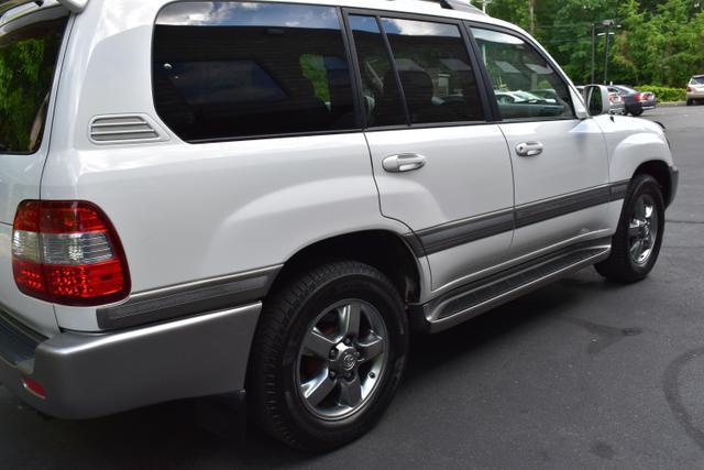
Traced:
[[47, 116], [69, 17], [63, 7], [29, 3], [0, 13], [0, 310], [51, 335], [58, 330], [53, 306], [15, 286], [12, 222], [20, 201], [40, 198]]

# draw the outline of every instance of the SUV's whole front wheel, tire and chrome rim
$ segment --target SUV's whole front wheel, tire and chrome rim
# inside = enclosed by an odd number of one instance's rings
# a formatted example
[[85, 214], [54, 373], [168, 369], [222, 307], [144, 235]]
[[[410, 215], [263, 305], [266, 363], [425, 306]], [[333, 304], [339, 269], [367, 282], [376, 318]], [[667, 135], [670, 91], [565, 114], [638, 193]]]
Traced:
[[604, 277], [634, 283], [644, 280], [658, 261], [664, 234], [664, 201], [658, 182], [636, 176], [624, 201], [608, 259], [596, 264]]

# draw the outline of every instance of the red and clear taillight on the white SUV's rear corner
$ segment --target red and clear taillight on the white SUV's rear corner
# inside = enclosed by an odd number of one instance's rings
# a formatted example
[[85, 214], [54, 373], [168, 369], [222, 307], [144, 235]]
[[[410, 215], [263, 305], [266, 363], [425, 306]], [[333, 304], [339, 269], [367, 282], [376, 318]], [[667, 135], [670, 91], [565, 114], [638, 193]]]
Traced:
[[19, 289], [63, 305], [91, 306], [124, 298], [130, 276], [114, 228], [85, 201], [20, 204], [12, 234]]

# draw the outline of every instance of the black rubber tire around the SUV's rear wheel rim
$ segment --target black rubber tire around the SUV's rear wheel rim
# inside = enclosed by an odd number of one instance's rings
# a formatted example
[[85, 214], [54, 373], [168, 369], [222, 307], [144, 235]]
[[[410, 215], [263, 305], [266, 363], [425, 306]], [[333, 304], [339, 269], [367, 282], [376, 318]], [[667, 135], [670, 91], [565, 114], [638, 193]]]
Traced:
[[[358, 411], [340, 419], [323, 419], [309, 409], [299, 390], [299, 354], [320, 313], [350, 298], [371, 305], [383, 318], [388, 337], [383, 356], [386, 365], [374, 392]], [[355, 261], [312, 269], [286, 283], [264, 303], [248, 375], [250, 416], [266, 433], [294, 448], [315, 452], [334, 449], [362, 436], [380, 420], [402, 380], [407, 354], [404, 303], [384, 274]], [[361, 369], [359, 374], [363, 374]]]

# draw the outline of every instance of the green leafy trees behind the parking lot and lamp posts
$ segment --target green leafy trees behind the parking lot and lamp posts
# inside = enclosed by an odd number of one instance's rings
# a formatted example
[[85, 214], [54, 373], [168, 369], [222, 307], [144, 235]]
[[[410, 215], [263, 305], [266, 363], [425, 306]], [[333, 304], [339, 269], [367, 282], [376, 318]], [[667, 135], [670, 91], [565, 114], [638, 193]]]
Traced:
[[[578, 84], [592, 80], [592, 24], [612, 30], [608, 81], [682, 87], [704, 74], [704, 1], [530, 0], [535, 36]], [[529, 0], [494, 0], [490, 14], [528, 29]], [[605, 36], [595, 41], [595, 81], [604, 80]], [[666, 96], [668, 94], [666, 92]]]

